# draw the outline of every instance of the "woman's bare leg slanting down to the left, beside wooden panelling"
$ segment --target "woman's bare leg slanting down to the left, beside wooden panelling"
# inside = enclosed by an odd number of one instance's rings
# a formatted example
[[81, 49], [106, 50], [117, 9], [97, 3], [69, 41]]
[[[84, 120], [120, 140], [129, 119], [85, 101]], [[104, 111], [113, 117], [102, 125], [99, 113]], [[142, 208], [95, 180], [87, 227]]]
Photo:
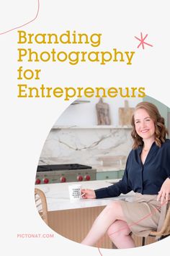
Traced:
[[107, 205], [104, 210], [102, 210], [102, 213], [96, 218], [89, 233], [81, 244], [94, 245], [107, 232], [109, 226], [117, 220], [125, 221], [125, 218], [122, 213], [120, 202], [113, 201]]

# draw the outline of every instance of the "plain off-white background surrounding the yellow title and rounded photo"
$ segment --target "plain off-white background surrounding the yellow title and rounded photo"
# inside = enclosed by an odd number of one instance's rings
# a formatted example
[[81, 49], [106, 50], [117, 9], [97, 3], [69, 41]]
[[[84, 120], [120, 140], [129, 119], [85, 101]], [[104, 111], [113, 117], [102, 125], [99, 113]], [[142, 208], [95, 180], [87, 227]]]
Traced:
[[[37, 1], [0, 1], [0, 33], [32, 20]], [[133, 64], [23, 64], [41, 68], [45, 85], [146, 87], [146, 93], [169, 106], [169, 1], [40, 0], [37, 19], [22, 27], [30, 33], [102, 33], [99, 49], [135, 51]], [[145, 50], [134, 36], [148, 33]], [[3, 255], [99, 255], [55, 234], [53, 239], [18, 239], [17, 234], [54, 234], [37, 216], [34, 182], [45, 138], [71, 102], [17, 98], [17, 30], [0, 35], [1, 56], [1, 252]], [[37, 46], [35, 46], [36, 49]], [[63, 46], [58, 46], [59, 48]], [[72, 51], [71, 46], [66, 46]], [[77, 48], [79, 50], [79, 48]], [[90, 47], [86, 47], [90, 50]], [[95, 48], [94, 48], [95, 49]], [[91, 49], [91, 50], [94, 50]], [[30, 85], [34, 84], [34, 80]], [[35, 82], [36, 83], [36, 82]], [[160, 255], [169, 239], [136, 249], [102, 249], [102, 255]]]

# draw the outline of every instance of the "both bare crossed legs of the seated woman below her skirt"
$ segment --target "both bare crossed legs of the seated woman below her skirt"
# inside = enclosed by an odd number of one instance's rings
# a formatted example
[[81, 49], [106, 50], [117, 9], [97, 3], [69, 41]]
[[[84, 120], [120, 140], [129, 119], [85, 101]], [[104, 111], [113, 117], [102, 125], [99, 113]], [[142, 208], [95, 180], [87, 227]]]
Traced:
[[96, 244], [106, 232], [117, 248], [135, 247], [119, 201], [109, 203], [109, 205], [102, 210], [81, 244], [92, 246]]

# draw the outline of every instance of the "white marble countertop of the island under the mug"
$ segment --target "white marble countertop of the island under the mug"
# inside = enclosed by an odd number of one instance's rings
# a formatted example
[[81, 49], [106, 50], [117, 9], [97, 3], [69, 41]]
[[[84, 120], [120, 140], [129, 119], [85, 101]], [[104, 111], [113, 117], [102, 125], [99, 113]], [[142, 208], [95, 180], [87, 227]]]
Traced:
[[[102, 187], [109, 187], [110, 185], [112, 185], [112, 183], [118, 181], [119, 179], [112, 179], [107, 181], [81, 182], [81, 188], [99, 189]], [[120, 195], [119, 197], [109, 197], [102, 199], [81, 199], [79, 201], [71, 201], [69, 199], [68, 194], [69, 184], [77, 184], [77, 182], [35, 185], [35, 187], [41, 189], [45, 193], [48, 203], [48, 211], [96, 207], [107, 205], [112, 200], [126, 199], [130, 201], [133, 198], [133, 193], [130, 192], [127, 195]]]

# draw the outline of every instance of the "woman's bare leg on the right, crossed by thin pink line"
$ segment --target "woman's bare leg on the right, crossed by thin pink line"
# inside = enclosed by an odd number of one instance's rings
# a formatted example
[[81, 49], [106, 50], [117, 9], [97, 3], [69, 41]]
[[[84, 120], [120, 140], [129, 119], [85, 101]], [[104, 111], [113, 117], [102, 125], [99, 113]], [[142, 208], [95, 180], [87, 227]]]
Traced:
[[130, 236], [130, 232], [130, 228], [125, 221], [115, 221], [107, 229], [109, 238], [119, 249], [135, 247], [135, 242]]

